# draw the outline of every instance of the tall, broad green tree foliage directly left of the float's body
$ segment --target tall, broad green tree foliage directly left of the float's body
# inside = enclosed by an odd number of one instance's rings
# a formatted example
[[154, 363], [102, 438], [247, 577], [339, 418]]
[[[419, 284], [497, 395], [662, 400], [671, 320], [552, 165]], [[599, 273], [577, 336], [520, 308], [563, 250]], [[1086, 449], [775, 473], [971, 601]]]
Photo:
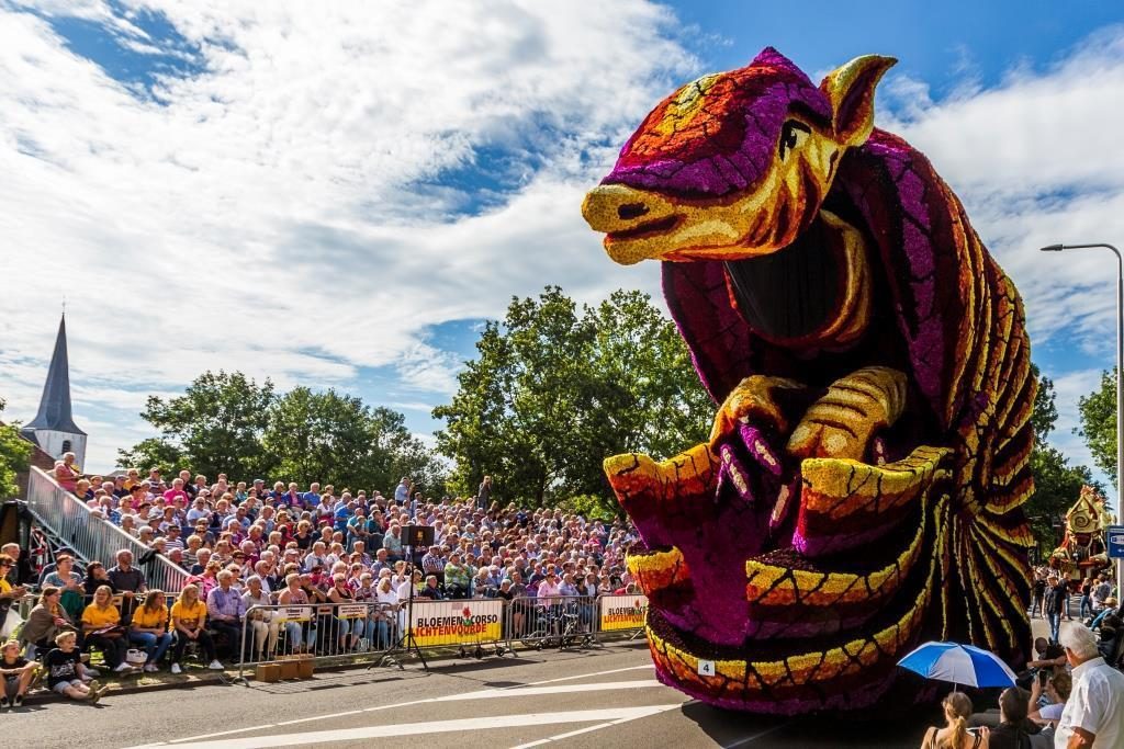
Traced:
[[607, 456], [674, 455], [705, 439], [714, 415], [674, 326], [641, 292], [581, 309], [556, 286], [513, 299], [477, 350], [452, 402], [434, 410], [462, 492], [490, 474], [506, 501], [592, 495], [615, 510]]

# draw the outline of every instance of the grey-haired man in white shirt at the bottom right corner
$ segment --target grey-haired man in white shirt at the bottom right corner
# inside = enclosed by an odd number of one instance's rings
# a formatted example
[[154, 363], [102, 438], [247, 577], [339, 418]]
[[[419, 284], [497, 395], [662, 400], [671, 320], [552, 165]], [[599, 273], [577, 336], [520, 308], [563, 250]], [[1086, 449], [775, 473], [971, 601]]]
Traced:
[[1124, 746], [1124, 674], [1105, 663], [1097, 636], [1084, 624], [1062, 630], [1061, 645], [1073, 667], [1073, 691], [1054, 749], [1118, 749]]

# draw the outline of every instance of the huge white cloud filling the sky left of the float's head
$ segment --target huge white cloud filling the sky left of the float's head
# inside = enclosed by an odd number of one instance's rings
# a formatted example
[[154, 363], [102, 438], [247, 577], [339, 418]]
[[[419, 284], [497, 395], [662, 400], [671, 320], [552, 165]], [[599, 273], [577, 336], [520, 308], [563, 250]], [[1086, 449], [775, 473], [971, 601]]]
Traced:
[[[498, 317], [546, 283], [587, 299], [654, 285], [610, 266], [578, 207], [695, 67], [667, 10], [126, 4], [0, 10], [0, 273], [20, 278], [0, 299], [0, 392], [7, 417], [34, 414], [65, 296], [72, 378], [99, 383], [75, 401], [121, 411], [91, 432], [92, 466], [135, 439], [138, 385], [224, 367], [341, 386], [391, 365], [408, 390], [447, 393], [457, 362], [428, 326]], [[184, 37], [165, 52], [198, 47], [205, 72], [138, 97], [40, 17], [148, 53], [161, 42], [138, 10], [164, 13]], [[537, 171], [495, 211], [457, 216], [441, 175], [484, 147]]]

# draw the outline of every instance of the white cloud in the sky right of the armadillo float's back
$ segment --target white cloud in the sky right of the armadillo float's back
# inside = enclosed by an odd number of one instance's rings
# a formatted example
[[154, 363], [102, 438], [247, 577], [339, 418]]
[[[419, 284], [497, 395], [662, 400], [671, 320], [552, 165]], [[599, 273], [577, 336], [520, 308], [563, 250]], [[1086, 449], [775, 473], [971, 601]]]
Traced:
[[[1017, 64], [980, 89], [971, 79], [934, 102], [924, 82], [892, 77], [896, 118], [882, 127], [923, 150], [963, 200], [972, 225], [1018, 286], [1034, 347], [1071, 347], [1072, 364], [1040, 360], [1058, 391], [1053, 442], [1105, 481], [1081, 439], [1077, 400], [1099, 382], [1089, 357], [1114, 363], [1115, 258], [1108, 250], [1044, 254], [1055, 243], [1124, 245], [1124, 27], [1104, 29], [1044, 71]], [[1039, 357], [1041, 358], [1041, 357]], [[1105, 482], [1107, 484], [1107, 482]], [[1113, 492], [1114, 494], [1114, 492]]]

